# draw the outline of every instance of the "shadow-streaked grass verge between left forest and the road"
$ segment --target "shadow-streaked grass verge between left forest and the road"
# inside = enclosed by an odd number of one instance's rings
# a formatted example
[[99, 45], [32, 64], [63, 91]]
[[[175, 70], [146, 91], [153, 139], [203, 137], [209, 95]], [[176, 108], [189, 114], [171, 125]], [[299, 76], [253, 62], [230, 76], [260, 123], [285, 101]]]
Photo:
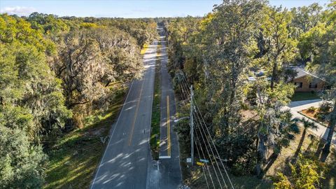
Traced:
[[89, 117], [83, 129], [65, 134], [47, 151], [50, 163], [46, 169], [43, 188], [90, 188], [94, 172], [104, 153], [109, 130], [125, 99], [125, 88], [120, 89], [108, 111]]

